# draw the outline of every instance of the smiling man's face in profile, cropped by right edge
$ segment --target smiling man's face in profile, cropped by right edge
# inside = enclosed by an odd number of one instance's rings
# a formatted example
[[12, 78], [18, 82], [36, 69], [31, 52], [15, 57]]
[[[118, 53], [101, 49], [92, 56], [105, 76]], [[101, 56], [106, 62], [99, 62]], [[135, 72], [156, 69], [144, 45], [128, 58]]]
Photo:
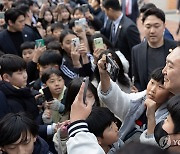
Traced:
[[180, 93], [180, 47], [176, 47], [166, 58], [163, 69], [164, 86], [173, 94]]

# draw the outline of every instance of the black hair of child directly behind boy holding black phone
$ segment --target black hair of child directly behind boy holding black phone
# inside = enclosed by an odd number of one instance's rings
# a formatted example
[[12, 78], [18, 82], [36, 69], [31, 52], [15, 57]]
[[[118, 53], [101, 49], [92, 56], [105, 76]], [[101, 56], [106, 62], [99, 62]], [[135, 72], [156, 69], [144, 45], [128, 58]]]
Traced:
[[38, 63], [41, 66], [46, 66], [51, 64], [60, 66], [61, 62], [62, 62], [62, 56], [56, 50], [46, 50], [41, 54], [41, 56], [38, 59]]

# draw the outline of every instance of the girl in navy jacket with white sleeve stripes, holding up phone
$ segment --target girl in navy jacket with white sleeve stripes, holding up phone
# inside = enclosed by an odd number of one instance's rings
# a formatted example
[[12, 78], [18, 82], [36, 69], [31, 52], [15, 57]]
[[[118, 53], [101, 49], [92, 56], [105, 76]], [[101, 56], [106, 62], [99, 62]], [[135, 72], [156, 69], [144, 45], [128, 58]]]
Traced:
[[64, 30], [60, 36], [60, 44], [62, 48], [62, 64], [61, 71], [65, 75], [65, 84], [78, 76], [91, 76], [91, 55], [87, 51], [85, 43], [80, 42], [78, 47], [72, 43], [72, 39], [78, 38], [72, 30]]

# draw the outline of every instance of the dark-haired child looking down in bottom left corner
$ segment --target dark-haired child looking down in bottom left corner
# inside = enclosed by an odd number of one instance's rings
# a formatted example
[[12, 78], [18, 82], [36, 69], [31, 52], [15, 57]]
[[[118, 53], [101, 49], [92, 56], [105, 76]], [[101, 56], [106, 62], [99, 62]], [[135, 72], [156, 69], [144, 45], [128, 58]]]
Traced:
[[25, 113], [9, 113], [0, 121], [0, 151], [7, 154], [50, 154], [38, 136], [38, 125]]

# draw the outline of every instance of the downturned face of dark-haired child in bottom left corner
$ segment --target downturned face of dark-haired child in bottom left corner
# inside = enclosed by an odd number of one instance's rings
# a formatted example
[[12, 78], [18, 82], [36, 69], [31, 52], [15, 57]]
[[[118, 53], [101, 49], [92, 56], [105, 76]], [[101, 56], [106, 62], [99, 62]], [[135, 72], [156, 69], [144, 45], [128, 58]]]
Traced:
[[21, 137], [16, 142], [5, 145], [2, 149], [8, 154], [32, 154], [35, 141], [36, 137], [28, 132], [27, 137], [25, 134], [21, 134]]

